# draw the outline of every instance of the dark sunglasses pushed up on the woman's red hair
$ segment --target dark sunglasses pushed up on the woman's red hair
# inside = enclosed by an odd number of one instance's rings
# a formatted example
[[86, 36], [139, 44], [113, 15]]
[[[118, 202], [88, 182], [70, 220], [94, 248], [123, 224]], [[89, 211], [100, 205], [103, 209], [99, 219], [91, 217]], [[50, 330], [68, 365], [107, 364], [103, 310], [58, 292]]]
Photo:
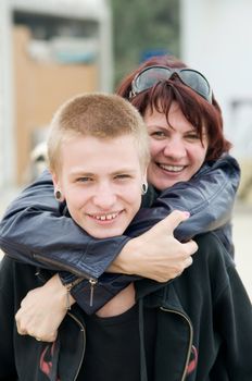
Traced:
[[200, 72], [188, 67], [169, 69], [162, 65], [149, 66], [138, 73], [131, 82], [129, 98], [148, 90], [159, 82], [171, 79], [174, 75], [178, 76], [184, 85], [212, 103], [212, 89], [209, 81]]

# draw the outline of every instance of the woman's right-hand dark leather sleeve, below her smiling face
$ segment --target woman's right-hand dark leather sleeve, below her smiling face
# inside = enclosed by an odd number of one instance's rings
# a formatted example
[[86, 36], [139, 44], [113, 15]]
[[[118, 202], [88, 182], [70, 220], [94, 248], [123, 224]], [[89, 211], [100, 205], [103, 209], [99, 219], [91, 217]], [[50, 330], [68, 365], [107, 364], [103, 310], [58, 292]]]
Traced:
[[190, 212], [190, 219], [175, 230], [179, 241], [217, 230], [230, 221], [239, 182], [240, 168], [231, 156], [205, 163], [189, 182], [177, 183], [161, 193], [151, 212], [141, 209], [126, 234], [141, 234], [149, 229], [150, 220], [155, 223], [175, 209]]

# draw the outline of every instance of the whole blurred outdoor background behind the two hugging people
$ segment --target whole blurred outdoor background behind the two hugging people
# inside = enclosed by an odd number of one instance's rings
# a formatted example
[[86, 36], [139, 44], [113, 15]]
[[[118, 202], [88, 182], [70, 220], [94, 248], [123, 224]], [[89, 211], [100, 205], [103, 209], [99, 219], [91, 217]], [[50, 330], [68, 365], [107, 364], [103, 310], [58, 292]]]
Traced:
[[251, 14], [251, 0], [1, 0], [0, 217], [41, 171], [58, 106], [171, 53], [206, 75], [222, 106], [242, 171], [236, 261], [252, 296]]

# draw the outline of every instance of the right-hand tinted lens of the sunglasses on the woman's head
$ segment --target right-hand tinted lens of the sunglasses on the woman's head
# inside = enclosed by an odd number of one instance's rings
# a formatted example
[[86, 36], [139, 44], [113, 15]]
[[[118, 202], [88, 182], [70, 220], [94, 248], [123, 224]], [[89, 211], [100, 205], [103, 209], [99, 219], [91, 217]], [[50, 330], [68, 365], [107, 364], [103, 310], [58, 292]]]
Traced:
[[203, 75], [193, 70], [182, 70], [180, 71], [179, 76], [187, 86], [200, 94], [206, 100], [211, 101], [211, 88]]

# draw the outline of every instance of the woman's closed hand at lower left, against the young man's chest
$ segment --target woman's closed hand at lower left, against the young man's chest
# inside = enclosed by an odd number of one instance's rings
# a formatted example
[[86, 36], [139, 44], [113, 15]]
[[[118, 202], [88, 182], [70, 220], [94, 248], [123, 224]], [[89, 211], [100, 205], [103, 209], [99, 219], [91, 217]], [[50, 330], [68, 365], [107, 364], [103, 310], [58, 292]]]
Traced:
[[[39, 341], [53, 342], [66, 309], [66, 288], [58, 274], [43, 286], [28, 292], [15, 315], [17, 332]], [[71, 304], [74, 304], [74, 298]]]

